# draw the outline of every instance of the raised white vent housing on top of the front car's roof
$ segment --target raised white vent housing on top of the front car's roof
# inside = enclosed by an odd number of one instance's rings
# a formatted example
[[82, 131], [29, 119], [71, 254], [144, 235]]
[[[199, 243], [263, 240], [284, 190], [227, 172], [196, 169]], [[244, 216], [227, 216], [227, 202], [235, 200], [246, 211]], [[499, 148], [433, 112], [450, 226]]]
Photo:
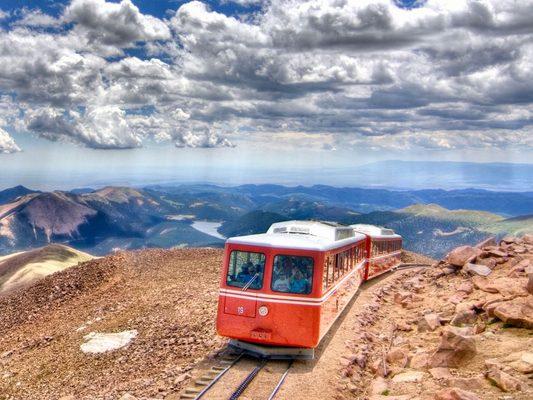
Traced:
[[311, 235], [329, 240], [342, 240], [354, 236], [354, 231], [349, 226], [322, 221], [277, 222], [270, 226], [267, 233]]

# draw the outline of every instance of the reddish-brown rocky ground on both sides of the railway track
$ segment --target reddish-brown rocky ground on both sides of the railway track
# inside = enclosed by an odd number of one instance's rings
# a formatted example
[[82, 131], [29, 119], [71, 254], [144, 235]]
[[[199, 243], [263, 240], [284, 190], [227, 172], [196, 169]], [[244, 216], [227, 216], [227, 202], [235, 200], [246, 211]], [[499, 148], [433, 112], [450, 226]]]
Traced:
[[[179, 398], [226, 343], [221, 257], [118, 253], [0, 298], [0, 399]], [[531, 399], [533, 238], [402, 260], [434, 265], [365, 284], [278, 398]]]

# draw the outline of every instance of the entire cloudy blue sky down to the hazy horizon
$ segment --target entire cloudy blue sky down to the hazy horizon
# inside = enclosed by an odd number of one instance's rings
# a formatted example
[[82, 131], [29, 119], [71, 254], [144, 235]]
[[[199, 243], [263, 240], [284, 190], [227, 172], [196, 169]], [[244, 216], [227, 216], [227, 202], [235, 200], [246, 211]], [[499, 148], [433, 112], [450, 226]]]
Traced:
[[2, 0], [0, 185], [532, 163], [532, 20], [532, 0]]

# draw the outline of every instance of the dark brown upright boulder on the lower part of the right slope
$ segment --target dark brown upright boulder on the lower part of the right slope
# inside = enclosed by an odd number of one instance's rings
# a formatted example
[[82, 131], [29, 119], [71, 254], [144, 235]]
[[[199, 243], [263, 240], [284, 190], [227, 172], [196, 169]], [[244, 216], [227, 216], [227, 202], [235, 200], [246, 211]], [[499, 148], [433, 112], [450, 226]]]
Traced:
[[441, 342], [431, 355], [428, 365], [457, 368], [471, 360], [477, 350], [476, 342], [469, 335], [471, 330], [448, 326], [442, 332]]

